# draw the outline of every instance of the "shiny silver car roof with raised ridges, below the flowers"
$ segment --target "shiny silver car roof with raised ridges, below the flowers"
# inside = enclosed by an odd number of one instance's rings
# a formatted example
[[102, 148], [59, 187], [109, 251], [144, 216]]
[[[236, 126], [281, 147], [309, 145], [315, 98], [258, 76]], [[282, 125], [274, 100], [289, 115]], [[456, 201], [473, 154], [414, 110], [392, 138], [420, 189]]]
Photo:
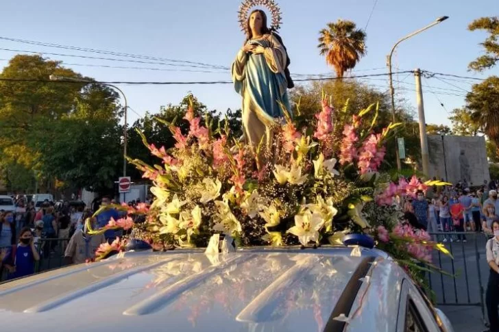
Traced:
[[375, 301], [365, 314], [386, 316], [381, 286], [391, 288], [385, 300], [396, 301], [400, 275], [385, 275], [393, 261], [376, 250], [357, 253], [345, 247], [125, 253], [0, 284], [0, 322], [5, 331], [322, 331], [345, 298], [356, 298], [344, 290], [358, 283], [361, 266], [369, 264], [369, 276], [379, 279], [371, 290], [361, 285]]

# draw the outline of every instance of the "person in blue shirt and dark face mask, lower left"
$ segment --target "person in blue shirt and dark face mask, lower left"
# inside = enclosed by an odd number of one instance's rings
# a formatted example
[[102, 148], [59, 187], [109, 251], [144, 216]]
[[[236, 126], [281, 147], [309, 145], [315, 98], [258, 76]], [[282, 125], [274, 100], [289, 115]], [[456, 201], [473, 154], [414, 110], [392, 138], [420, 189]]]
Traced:
[[19, 244], [15, 247], [9, 261], [5, 262], [5, 267], [10, 272], [8, 279], [22, 278], [33, 274], [35, 261], [40, 260], [31, 229], [25, 227], [21, 229], [19, 234]]

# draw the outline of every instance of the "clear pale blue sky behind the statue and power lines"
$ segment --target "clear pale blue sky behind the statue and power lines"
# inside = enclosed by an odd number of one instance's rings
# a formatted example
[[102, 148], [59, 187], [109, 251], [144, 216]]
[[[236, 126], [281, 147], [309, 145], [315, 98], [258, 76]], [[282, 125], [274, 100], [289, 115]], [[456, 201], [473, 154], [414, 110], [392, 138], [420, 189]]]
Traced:
[[[481, 16], [498, 15], [497, 0], [276, 2], [282, 10], [283, 24], [280, 35], [291, 58], [291, 73], [332, 73], [332, 68], [326, 65], [324, 58], [317, 51], [317, 37], [319, 30], [326, 27], [328, 22], [337, 21], [339, 18], [354, 21], [359, 28], [367, 32], [367, 55], [351, 74], [367, 75], [387, 73], [386, 56], [398, 39], [428, 25], [439, 16], [450, 16], [447, 21], [402, 42], [393, 55], [393, 71], [421, 68], [426, 71], [477, 78], [499, 75], [499, 68], [482, 74], [467, 71], [467, 64], [482, 54], [478, 43], [487, 36], [482, 31], [467, 31], [467, 25]], [[237, 21], [240, 3], [238, 0], [3, 0], [0, 37], [229, 67], [244, 41]], [[143, 64], [71, 58], [44, 53], [157, 62], [8, 40], [0, 40], [0, 49], [42, 53], [46, 58], [62, 60], [64, 66], [98, 81], [230, 81], [229, 71], [193, 68], [192, 64], [185, 62]], [[0, 66], [6, 66], [8, 59], [16, 53], [24, 52], [0, 50]], [[178, 66], [179, 64], [182, 66]], [[162, 70], [148, 70], [144, 67]], [[404, 98], [416, 110], [414, 76], [398, 74], [394, 75], [394, 79], [397, 97]], [[470, 90], [473, 82], [458, 80], [423, 79], [426, 123], [450, 125], [448, 112], [464, 105], [464, 95]], [[373, 88], [387, 91], [386, 76], [363, 81]], [[188, 92], [193, 92], [209, 109], [224, 112], [228, 108], [241, 107], [241, 97], [236, 94], [232, 84], [123, 85], [120, 88], [126, 94], [128, 105], [133, 110], [129, 112], [130, 123], [138, 116], [143, 116], [146, 111], [154, 113], [158, 112], [162, 105], [179, 103]]]

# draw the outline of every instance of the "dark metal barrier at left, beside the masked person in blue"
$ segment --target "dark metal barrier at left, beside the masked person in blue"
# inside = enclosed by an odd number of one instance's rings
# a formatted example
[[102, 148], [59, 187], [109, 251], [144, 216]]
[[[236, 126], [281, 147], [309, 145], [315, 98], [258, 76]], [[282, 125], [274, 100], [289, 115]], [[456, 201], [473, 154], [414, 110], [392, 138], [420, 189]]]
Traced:
[[[36, 243], [40, 261], [35, 262], [35, 273], [60, 268], [65, 264], [64, 251], [69, 243], [69, 238], [40, 238]], [[0, 283], [8, 279], [8, 272], [5, 268], [0, 270]]]

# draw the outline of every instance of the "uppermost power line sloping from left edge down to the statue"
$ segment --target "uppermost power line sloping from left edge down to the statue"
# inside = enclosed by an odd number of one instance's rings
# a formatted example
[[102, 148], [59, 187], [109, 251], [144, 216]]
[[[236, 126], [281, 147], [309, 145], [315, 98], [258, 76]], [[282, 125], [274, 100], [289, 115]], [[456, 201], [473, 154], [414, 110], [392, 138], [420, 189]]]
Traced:
[[86, 47], [75, 47], [75, 46], [69, 46], [69, 45], [54, 44], [51, 42], [37, 42], [34, 40], [23, 40], [23, 39], [18, 39], [18, 38], [9, 38], [9, 37], [1, 37], [1, 36], [0, 36], [0, 39], [1, 40], [10, 40], [12, 42], [22, 42], [24, 44], [32, 44], [32, 45], [38, 45], [38, 46], [43, 46], [43, 47], [56, 47], [58, 49], [70, 49], [73, 51], [83, 51], [83, 52], [90, 52], [90, 53], [115, 55], [115, 56], [125, 57], [125, 58], [136, 58], [136, 59], [163, 61], [163, 62], [177, 62], [177, 63], [184, 63], [184, 64], [195, 64], [195, 65], [209, 67], [209, 68], [228, 69], [228, 67], [226, 67], [226, 66], [219, 66], [219, 65], [214, 65], [214, 64], [205, 64], [203, 62], [193, 62], [193, 61], [187, 61], [187, 60], [175, 60], [175, 59], [167, 59], [167, 58], [156, 58], [156, 57], [151, 57], [151, 56], [147, 56], [147, 55], [121, 53], [121, 52], [106, 51], [106, 50], [101, 50], [101, 49], [90, 49], [90, 48], [86, 48]]

